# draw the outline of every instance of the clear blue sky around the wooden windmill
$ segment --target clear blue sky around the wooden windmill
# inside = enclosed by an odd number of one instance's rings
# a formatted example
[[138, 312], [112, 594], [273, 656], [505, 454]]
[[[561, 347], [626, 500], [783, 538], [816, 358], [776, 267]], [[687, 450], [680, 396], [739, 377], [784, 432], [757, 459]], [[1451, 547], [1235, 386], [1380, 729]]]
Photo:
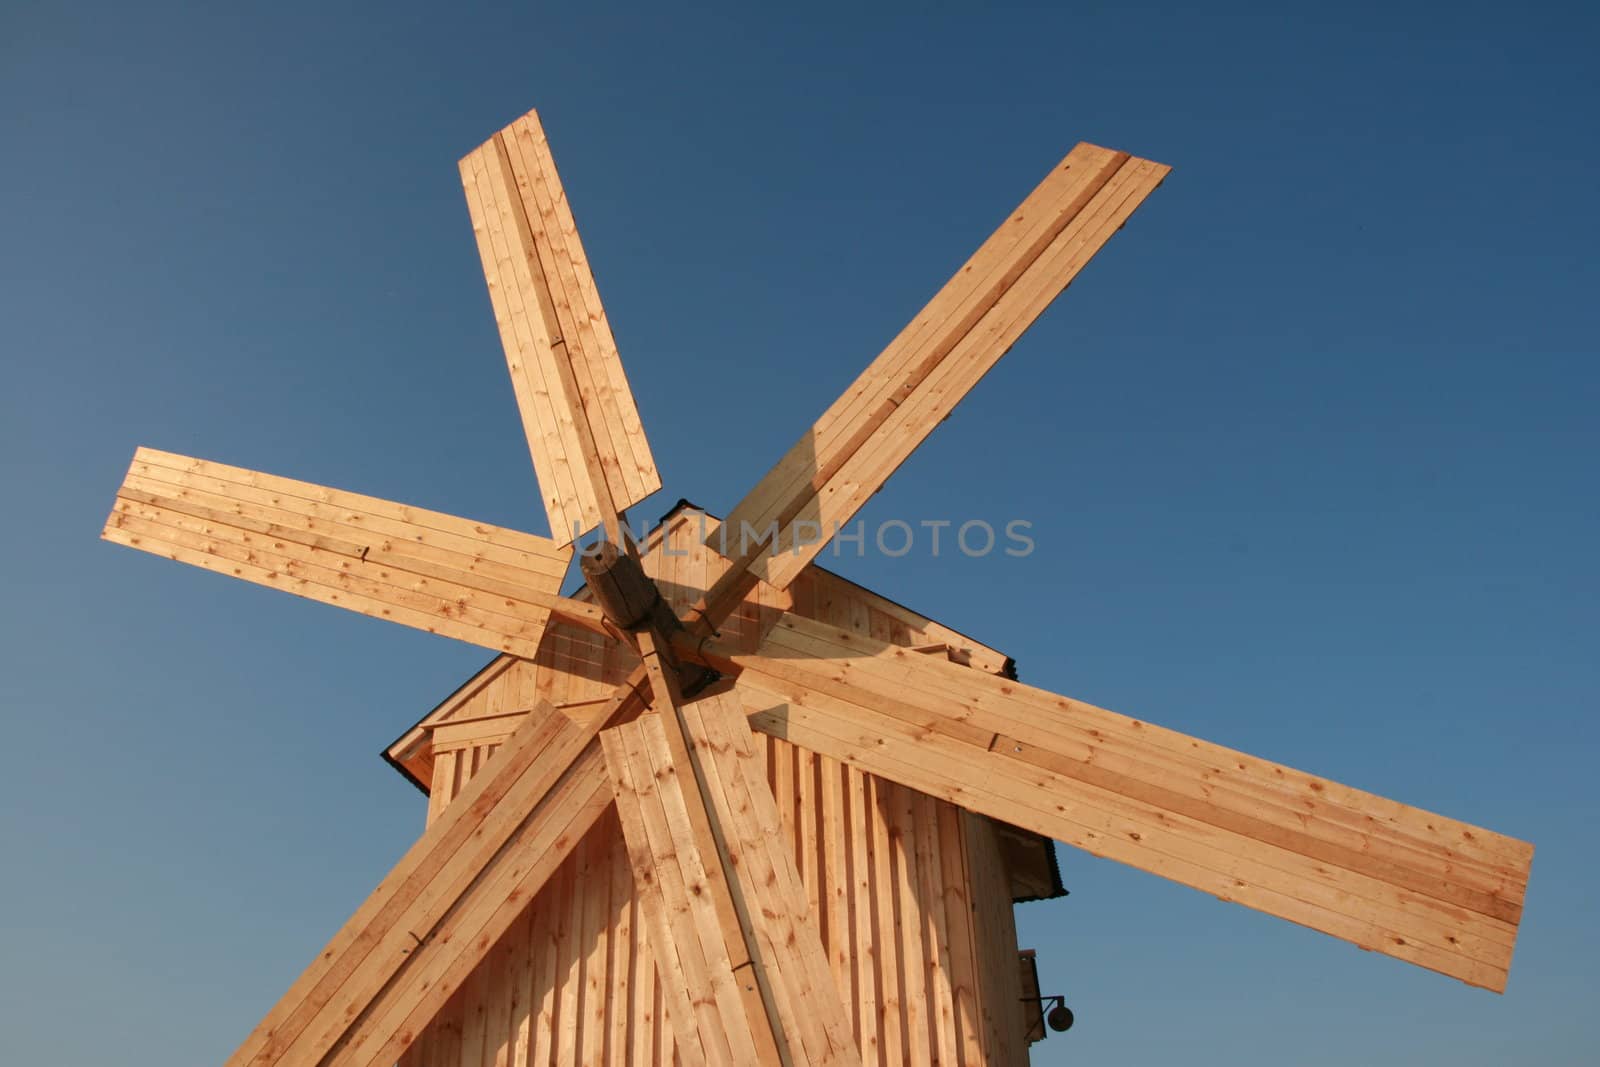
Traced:
[[0, 13], [0, 1061], [221, 1062], [418, 833], [378, 750], [482, 651], [96, 534], [141, 443], [542, 533], [454, 168], [536, 106], [642, 515], [726, 510], [1075, 141], [1171, 163], [866, 514], [1034, 557], [835, 565], [1539, 851], [1493, 997], [1062, 848], [1034, 1062], [1594, 1062], [1592, 10], [234, 6]]

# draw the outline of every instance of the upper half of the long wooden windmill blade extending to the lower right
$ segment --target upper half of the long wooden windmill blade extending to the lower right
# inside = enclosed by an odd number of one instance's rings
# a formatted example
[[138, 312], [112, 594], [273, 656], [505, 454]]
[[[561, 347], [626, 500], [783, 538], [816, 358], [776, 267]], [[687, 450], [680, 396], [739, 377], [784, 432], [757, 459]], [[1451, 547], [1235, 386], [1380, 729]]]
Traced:
[[[1507, 921], [1520, 913], [1525, 878], [1517, 872], [1531, 857], [1522, 841], [1040, 689], [942, 664], [926, 670], [902, 649], [856, 654], [853, 640], [822, 627], [774, 627], [773, 648], [789, 649], [776, 673], [797, 654], [818, 656], [827, 662], [824, 691], [851, 699], [870, 689], [880, 710], [910, 725], [936, 721], [941, 733], [1019, 761], [1138, 789], [1226, 829]], [[944, 715], [930, 720], [934, 710]], [[1307, 822], [1307, 808], [1318, 819]]]

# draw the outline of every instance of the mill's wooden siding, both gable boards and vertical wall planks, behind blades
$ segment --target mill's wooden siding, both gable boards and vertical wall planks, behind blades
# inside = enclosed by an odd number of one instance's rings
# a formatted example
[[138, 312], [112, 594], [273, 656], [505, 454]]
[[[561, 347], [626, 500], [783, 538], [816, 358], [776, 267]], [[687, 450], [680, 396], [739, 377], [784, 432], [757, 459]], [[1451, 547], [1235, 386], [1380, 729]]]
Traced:
[[[683, 510], [646, 544], [645, 569], [677, 611], [717, 569], [701, 541], [699, 514]], [[986, 673], [1008, 665], [1002, 653], [814, 565], [787, 590], [758, 585], [720, 640], [754, 651], [784, 611]], [[536, 657], [494, 659], [389, 755], [430, 785], [432, 822], [493, 765], [523, 709], [549, 701], [582, 715], [635, 662], [616, 643], [552, 621]], [[1026, 1064], [1026, 1041], [1003, 1032], [1014, 1003], [994, 1000], [1018, 995], [1013, 893], [994, 824], [784, 741], [757, 741], [862, 1061]], [[997, 966], [1003, 958], [1010, 971]], [[606, 813], [402, 1064], [694, 1062], [678, 1051], [664, 993], [616, 814]]]

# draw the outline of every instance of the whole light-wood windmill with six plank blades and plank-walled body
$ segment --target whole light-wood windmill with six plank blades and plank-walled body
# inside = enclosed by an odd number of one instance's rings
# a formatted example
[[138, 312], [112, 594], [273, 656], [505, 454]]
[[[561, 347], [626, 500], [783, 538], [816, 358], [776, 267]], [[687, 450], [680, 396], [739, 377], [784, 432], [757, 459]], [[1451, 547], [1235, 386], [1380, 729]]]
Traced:
[[1530, 845], [814, 563], [1166, 171], [1075, 147], [722, 523], [626, 536], [661, 478], [533, 114], [461, 174], [554, 537], [139, 450], [107, 539], [498, 654], [389, 749], [426, 832], [229, 1065], [1024, 1064], [1046, 838], [1502, 990]]

